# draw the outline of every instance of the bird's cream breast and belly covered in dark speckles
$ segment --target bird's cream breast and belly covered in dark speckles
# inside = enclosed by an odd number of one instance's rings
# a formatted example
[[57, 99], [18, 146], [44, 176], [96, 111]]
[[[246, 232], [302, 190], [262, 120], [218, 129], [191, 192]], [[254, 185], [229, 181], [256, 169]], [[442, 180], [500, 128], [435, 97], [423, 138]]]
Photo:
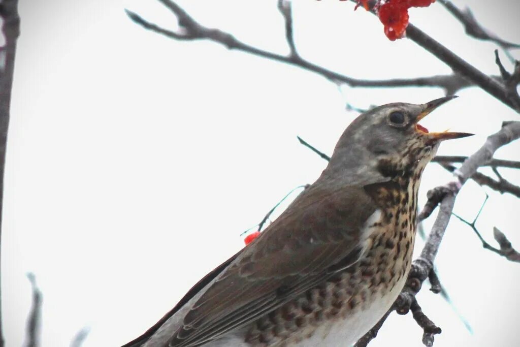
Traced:
[[367, 226], [366, 252], [354, 265], [258, 319], [246, 342], [252, 346], [348, 346], [385, 314], [410, 270], [417, 190], [415, 179], [374, 187], [382, 202], [379, 220]]

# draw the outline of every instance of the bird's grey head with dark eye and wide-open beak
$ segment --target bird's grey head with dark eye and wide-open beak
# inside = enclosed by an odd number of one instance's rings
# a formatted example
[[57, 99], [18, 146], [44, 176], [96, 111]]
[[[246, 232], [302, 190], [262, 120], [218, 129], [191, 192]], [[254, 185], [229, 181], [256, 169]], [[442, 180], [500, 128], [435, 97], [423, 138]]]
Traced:
[[365, 179], [384, 182], [395, 176], [420, 174], [440, 142], [472, 135], [431, 133], [419, 124], [427, 114], [453, 98], [447, 96], [422, 105], [396, 102], [362, 113], [341, 136], [326, 172], [332, 176], [343, 172], [359, 177], [360, 184]]

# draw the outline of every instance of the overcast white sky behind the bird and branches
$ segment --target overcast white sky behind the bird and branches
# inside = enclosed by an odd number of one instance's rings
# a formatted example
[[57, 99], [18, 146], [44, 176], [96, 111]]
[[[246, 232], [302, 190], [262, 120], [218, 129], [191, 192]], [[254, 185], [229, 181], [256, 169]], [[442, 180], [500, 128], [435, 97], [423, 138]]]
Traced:
[[[283, 20], [270, 0], [184, 0], [204, 25], [287, 53]], [[501, 37], [520, 42], [516, 2], [470, 4]], [[512, 5], [514, 3], [514, 5]], [[8, 347], [20, 346], [30, 309], [28, 272], [44, 295], [42, 346], [67, 346], [90, 327], [84, 347], [116, 346], [154, 324], [203, 275], [243, 246], [239, 236], [326, 162], [296, 135], [331, 153], [358, 107], [422, 103], [436, 88], [338, 88], [318, 75], [211, 42], [176, 42], [125, 15], [176, 27], [154, 0], [20, 0], [5, 176], [2, 316]], [[381, 23], [349, 2], [296, 0], [300, 54], [366, 79], [449, 73], [408, 40], [389, 42]], [[410, 21], [486, 73], [498, 73], [490, 43], [466, 37], [442, 6], [410, 10]], [[516, 57], [520, 55], [516, 52]], [[504, 58], [506, 67], [511, 64]], [[437, 110], [431, 130], [477, 134], [440, 153], [468, 155], [518, 115], [477, 88]], [[497, 152], [520, 159], [520, 143]], [[517, 184], [518, 172], [502, 170]], [[450, 178], [428, 166], [420, 191]], [[520, 201], [470, 182], [455, 211], [492, 242], [499, 227], [520, 247]], [[282, 209], [277, 212], [281, 212]], [[434, 216], [425, 223], [429, 230]], [[421, 248], [421, 242], [417, 242]], [[436, 346], [512, 346], [520, 267], [485, 251], [452, 220], [437, 265], [458, 313], [425, 288], [425, 313], [443, 333]], [[473, 334], [458, 314], [465, 317]], [[411, 316], [393, 314], [370, 345], [420, 346]]]

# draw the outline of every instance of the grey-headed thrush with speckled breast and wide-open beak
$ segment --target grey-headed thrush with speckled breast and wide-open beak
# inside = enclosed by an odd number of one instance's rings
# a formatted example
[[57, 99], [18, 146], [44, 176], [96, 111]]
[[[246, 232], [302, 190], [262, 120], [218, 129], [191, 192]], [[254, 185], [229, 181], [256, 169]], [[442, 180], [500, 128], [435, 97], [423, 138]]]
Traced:
[[472, 135], [418, 123], [455, 97], [360, 114], [313, 184], [124, 347], [355, 343], [405, 285], [426, 164], [443, 140]]

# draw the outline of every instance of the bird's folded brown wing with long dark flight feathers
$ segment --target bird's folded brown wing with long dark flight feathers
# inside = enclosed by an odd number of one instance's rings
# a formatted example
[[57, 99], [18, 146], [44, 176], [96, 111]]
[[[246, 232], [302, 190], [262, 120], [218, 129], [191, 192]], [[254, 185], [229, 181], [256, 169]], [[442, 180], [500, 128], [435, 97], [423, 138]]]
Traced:
[[309, 187], [193, 304], [170, 346], [214, 340], [348, 266], [359, 256], [360, 233], [374, 211], [363, 188]]

